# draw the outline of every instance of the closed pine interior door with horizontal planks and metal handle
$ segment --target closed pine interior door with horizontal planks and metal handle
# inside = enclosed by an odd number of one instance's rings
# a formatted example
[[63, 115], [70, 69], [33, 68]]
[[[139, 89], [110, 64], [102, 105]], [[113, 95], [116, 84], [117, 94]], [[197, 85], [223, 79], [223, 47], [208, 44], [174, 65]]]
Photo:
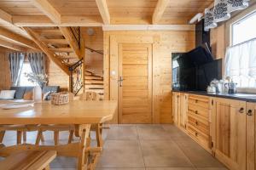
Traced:
[[119, 43], [119, 123], [152, 117], [152, 45]]

